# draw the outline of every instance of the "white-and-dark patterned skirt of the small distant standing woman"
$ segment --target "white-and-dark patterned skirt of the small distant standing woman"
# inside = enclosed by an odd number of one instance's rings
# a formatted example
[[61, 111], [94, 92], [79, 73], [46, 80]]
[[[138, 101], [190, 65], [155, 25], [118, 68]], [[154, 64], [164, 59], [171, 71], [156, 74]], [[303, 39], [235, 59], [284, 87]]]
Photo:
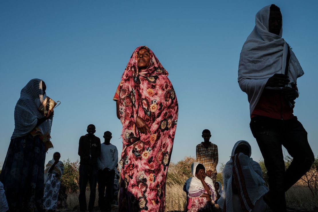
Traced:
[[60, 179], [56, 177], [56, 173], [49, 173], [46, 178], [44, 188], [44, 208], [46, 210], [56, 210], [58, 204]]

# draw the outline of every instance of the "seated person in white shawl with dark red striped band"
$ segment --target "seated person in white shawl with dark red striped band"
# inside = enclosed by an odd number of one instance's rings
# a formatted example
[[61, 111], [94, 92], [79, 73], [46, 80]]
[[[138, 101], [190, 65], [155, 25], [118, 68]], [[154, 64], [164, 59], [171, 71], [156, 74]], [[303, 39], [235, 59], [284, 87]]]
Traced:
[[264, 185], [259, 164], [251, 157], [251, 146], [239, 140], [233, 147], [231, 160], [222, 171], [223, 192], [218, 205], [226, 212], [266, 211], [263, 195], [268, 191]]

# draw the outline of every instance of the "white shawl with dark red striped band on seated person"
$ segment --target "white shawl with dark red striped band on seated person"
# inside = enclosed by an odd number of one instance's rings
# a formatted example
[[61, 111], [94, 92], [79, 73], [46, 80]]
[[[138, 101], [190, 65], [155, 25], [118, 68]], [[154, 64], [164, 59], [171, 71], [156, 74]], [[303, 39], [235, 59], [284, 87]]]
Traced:
[[[235, 149], [242, 144], [249, 147], [249, 156], [243, 153], [234, 155]], [[248, 211], [251, 211], [255, 205], [255, 202], [268, 191], [268, 188], [264, 185], [265, 181], [263, 180], [263, 174], [259, 164], [256, 161], [253, 161], [250, 156], [250, 144], [245, 140], [239, 140], [233, 147], [231, 160], [228, 161], [223, 168], [223, 192], [220, 199], [218, 200], [218, 204], [223, 209], [224, 206], [226, 206], [225, 208], [227, 212], [233, 211], [232, 178], [234, 175], [237, 176], [236, 180], [239, 183], [236, 183], [236, 186], [238, 187], [239, 195], [243, 200], [243, 202], [241, 202], [241, 207], [245, 207], [245, 209]], [[233, 172], [233, 168], [235, 172]], [[242, 185], [242, 183], [240, 183], [241, 181], [245, 181], [245, 185]]]

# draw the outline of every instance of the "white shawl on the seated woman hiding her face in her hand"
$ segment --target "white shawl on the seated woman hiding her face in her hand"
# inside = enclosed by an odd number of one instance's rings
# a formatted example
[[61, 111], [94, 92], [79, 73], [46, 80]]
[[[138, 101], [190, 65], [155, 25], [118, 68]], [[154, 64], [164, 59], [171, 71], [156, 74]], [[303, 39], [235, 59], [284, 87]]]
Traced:
[[[204, 193], [203, 184], [202, 184], [201, 180], [199, 180], [196, 177], [196, 168], [197, 168], [197, 165], [199, 165], [199, 164], [200, 163], [198, 163], [198, 162], [193, 162], [192, 163], [192, 165], [191, 165], [191, 173], [192, 173], [193, 177], [190, 177], [188, 180], [186, 180], [185, 184], [184, 184], [184, 187], [183, 187], [183, 190], [188, 193], [189, 197], [199, 197], [199, 196], [201, 196]], [[204, 172], [205, 172], [205, 167], [204, 167]], [[213, 184], [212, 179], [210, 177], [206, 176], [204, 181], [210, 187], [211, 199], [214, 200], [215, 188], [214, 188], [214, 184]]]

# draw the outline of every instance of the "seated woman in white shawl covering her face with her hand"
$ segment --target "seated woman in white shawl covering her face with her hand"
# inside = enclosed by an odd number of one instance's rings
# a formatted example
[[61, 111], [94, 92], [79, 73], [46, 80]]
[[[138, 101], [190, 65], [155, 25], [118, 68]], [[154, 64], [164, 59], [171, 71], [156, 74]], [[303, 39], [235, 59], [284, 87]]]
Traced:
[[204, 212], [212, 211], [214, 205], [214, 184], [211, 178], [206, 176], [203, 164], [193, 162], [190, 177], [185, 181], [183, 190], [187, 193], [187, 211]]

